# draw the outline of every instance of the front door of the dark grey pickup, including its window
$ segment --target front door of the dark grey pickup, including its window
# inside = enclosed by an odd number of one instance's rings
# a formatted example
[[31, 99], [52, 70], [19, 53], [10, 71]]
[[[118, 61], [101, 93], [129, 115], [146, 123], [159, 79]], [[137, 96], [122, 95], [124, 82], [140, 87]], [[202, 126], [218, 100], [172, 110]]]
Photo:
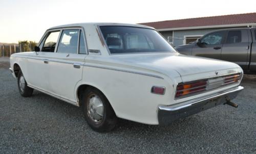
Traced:
[[192, 55], [221, 59], [221, 49], [225, 34], [226, 31], [206, 34], [200, 39], [200, 43], [195, 44], [191, 52]]

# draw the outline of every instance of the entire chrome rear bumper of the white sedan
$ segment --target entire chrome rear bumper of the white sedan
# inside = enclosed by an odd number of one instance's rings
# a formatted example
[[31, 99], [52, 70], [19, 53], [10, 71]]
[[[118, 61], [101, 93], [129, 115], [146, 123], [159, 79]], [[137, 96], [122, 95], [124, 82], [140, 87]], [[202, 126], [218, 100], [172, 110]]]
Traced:
[[[187, 101], [183, 106], [162, 106], [158, 107], [158, 122], [161, 125], [167, 125], [173, 121], [185, 118], [189, 115], [207, 110], [209, 108], [225, 104], [227, 101], [235, 98], [244, 87], [238, 86], [216, 94], [206, 95], [200, 98]], [[181, 104], [184, 104], [182, 102]]]

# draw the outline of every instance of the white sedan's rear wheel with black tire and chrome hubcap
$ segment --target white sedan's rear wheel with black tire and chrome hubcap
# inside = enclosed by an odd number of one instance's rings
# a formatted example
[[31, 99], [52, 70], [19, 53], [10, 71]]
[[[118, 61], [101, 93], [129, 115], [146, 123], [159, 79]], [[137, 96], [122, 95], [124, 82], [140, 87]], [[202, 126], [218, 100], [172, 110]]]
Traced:
[[117, 123], [117, 117], [110, 102], [102, 92], [87, 88], [81, 96], [82, 110], [89, 126], [97, 132], [110, 132]]

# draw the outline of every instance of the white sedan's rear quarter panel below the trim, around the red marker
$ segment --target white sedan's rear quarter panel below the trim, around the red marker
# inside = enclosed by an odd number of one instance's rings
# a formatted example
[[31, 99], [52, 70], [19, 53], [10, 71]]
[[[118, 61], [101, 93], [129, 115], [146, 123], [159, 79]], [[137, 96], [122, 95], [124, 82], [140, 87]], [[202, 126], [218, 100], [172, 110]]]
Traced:
[[[104, 65], [103, 65], [104, 66]], [[101, 90], [119, 118], [158, 124], [158, 106], [170, 105], [174, 83], [141, 74], [84, 66], [83, 82]], [[152, 86], [164, 86], [165, 94], [151, 93]]]

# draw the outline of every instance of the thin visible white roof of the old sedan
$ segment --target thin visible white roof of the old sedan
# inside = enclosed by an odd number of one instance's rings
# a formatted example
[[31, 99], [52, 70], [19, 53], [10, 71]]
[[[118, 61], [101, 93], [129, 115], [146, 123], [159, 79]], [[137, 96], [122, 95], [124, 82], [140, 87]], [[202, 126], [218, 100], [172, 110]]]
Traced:
[[[147, 29], [154, 29], [147, 25], [142, 24], [131, 24], [131, 23], [112, 23], [112, 22], [84, 22], [84, 23], [72, 23], [72, 24], [63, 24], [52, 27], [50, 29], [58, 29], [58, 28], [67, 28], [67, 27], [87, 27], [90, 25], [118, 25], [118, 26], [127, 26], [127, 27], [139, 27], [139, 28], [147, 28]], [[49, 29], [49, 30], [50, 30]]]

